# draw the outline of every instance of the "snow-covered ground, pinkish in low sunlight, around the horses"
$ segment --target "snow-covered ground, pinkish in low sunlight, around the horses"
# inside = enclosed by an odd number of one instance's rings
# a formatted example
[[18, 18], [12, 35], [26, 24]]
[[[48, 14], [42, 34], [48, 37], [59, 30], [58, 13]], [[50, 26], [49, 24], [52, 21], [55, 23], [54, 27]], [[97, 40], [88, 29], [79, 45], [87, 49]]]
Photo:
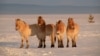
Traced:
[[[59, 19], [67, 24], [68, 17], [73, 17], [80, 26], [78, 47], [50, 48], [50, 38], [46, 38], [46, 48], [37, 48], [38, 39], [30, 36], [30, 48], [19, 48], [21, 37], [15, 31], [15, 19], [20, 18], [28, 24], [37, 23], [37, 17], [43, 16], [46, 23], [55, 24]], [[0, 15], [0, 56], [100, 56], [100, 14], [93, 14], [95, 23], [88, 23], [89, 14], [61, 14], [61, 15]]]

